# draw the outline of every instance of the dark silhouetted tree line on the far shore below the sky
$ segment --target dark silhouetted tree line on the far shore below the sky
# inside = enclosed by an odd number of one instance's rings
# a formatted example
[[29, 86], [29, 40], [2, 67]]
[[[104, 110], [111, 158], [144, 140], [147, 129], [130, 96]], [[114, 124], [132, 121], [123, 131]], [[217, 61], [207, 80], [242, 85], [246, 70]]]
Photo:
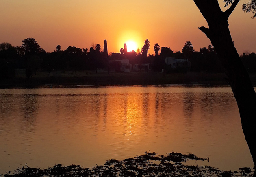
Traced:
[[[131, 65], [149, 63], [152, 71], [160, 72], [165, 69], [166, 73], [187, 72], [185, 70], [173, 70], [165, 63], [166, 57], [176, 59], [188, 59], [191, 62], [193, 72], [223, 72], [223, 66], [218, 60], [215, 48], [211, 45], [195, 51], [193, 44], [187, 41], [182, 51], [174, 52], [170, 47], [160, 47], [154, 44], [154, 54], [148, 54], [150, 41], [146, 39], [144, 46], [136, 52], [127, 52], [127, 46], [120, 49], [119, 53], [108, 53], [107, 41], [104, 41], [102, 50], [100, 44], [88, 48], [69, 46], [61, 50], [57, 45], [54, 52], [46, 52], [34, 38], [24, 39], [22, 46], [14, 47], [10, 43], [0, 44], [0, 73], [1, 78], [15, 76], [15, 69], [26, 69], [26, 76], [31, 77], [40, 71], [66, 71], [66, 70], [91, 70], [120, 71], [121, 60], [128, 59]], [[249, 72], [256, 72], [255, 53], [243, 53], [241, 59]]]

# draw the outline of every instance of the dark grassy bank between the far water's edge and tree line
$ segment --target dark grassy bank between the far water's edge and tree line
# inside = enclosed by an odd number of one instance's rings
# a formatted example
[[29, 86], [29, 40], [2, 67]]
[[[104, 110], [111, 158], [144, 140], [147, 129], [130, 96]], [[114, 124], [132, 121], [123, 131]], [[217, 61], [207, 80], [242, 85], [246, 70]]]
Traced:
[[[256, 76], [253, 76], [256, 78]], [[59, 85], [163, 85], [163, 84], [203, 84], [227, 85], [224, 73], [188, 72], [163, 74], [160, 72], [86, 72], [56, 71], [37, 72], [31, 78], [25, 74], [16, 74], [11, 79], [3, 79], [0, 87], [43, 87]], [[255, 79], [254, 79], [255, 80]]]

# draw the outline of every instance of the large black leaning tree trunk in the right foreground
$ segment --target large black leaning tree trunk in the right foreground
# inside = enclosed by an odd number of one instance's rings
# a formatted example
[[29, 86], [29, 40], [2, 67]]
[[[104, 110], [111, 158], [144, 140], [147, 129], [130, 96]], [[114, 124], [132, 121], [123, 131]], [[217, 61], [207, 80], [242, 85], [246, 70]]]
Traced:
[[[236, 98], [245, 140], [250, 149], [254, 166], [256, 164], [256, 94], [249, 75], [236, 51], [228, 29], [228, 17], [239, 0], [235, 0], [225, 12], [217, 0], [194, 0], [206, 19], [209, 28], [200, 27], [211, 40], [217, 55], [225, 68], [228, 82]], [[255, 176], [256, 173], [254, 173]]]

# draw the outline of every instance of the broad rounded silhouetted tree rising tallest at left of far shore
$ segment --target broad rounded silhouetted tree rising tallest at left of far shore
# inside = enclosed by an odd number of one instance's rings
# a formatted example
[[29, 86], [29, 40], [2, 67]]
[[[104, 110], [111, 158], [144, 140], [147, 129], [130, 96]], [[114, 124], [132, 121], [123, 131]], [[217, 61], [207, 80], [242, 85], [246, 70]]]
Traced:
[[35, 38], [27, 38], [22, 40], [21, 48], [25, 51], [25, 55], [38, 54], [41, 51], [41, 46], [35, 41]]

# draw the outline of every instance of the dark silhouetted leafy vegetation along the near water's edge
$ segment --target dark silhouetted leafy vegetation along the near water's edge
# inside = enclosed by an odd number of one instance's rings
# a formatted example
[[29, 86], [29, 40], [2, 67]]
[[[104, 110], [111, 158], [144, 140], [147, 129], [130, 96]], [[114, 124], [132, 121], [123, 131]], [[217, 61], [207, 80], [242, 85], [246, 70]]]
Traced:
[[253, 169], [240, 168], [238, 171], [222, 171], [210, 166], [186, 165], [189, 160], [207, 160], [208, 158], [198, 158], [194, 154], [167, 153], [166, 156], [156, 153], [145, 152], [134, 158], [124, 160], [111, 159], [104, 165], [93, 168], [83, 168], [80, 165], [63, 166], [54, 165], [48, 169], [39, 168], [18, 168], [13, 173], [9, 172], [4, 177], [232, 177], [232, 176], [252, 176]]

